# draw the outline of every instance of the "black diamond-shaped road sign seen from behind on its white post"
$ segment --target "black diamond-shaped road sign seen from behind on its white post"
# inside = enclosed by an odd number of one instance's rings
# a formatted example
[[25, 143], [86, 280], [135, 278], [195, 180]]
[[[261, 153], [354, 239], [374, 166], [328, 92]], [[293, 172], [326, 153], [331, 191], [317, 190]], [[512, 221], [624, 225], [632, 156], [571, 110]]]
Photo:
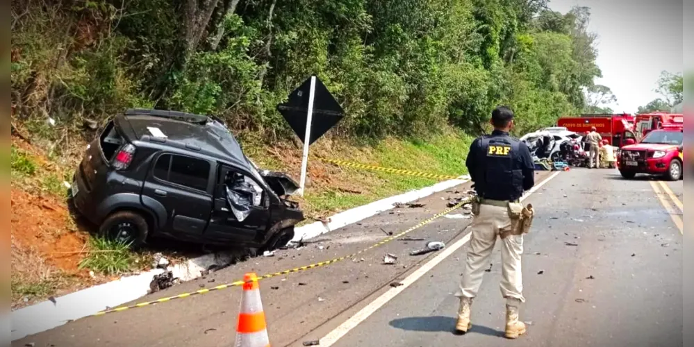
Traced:
[[304, 142], [301, 156], [301, 179], [297, 194], [304, 196], [306, 169], [308, 167], [308, 146], [330, 130], [345, 115], [338, 101], [333, 98], [325, 85], [316, 76], [306, 79], [289, 94], [286, 103], [277, 105], [277, 110], [289, 126]]

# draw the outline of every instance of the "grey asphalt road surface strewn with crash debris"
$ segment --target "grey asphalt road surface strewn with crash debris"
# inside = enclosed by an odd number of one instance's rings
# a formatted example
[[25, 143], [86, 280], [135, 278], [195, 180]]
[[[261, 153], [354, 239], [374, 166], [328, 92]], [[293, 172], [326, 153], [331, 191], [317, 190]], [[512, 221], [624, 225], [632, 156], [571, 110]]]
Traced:
[[[538, 173], [538, 181], [547, 176]], [[667, 185], [681, 201], [681, 181]], [[140, 301], [214, 287], [249, 271], [271, 273], [354, 253], [389, 232], [400, 232], [444, 210], [447, 198], [467, 188], [435, 194], [420, 201], [424, 207], [384, 212], [319, 237], [319, 242], [304, 248], [256, 257]], [[665, 191], [660, 195], [670, 198]], [[523, 260], [528, 303], [521, 317], [532, 325], [528, 335], [513, 344], [681, 346], [682, 236], [656, 197], [651, 180], [627, 181], [613, 170], [576, 169], [547, 182], [527, 202], [538, 210], [534, 230], [526, 237]], [[677, 205], [671, 205], [677, 212]], [[272, 345], [302, 346], [304, 341], [328, 335], [355, 312], [373, 305], [374, 298], [392, 291], [391, 283], [422, 271], [437, 256], [413, 257], [409, 251], [427, 241], [452, 245], [468, 233], [468, 223], [468, 219], [442, 217], [407, 235], [424, 241], [388, 242], [353, 260], [262, 280]], [[397, 264], [381, 264], [385, 253], [397, 255]], [[498, 256], [474, 302], [472, 332], [463, 337], [452, 334], [457, 308], [452, 292], [463, 259], [461, 248], [334, 346], [508, 344], [499, 337], [504, 305], [498, 289]], [[594, 279], [586, 279], [589, 276]], [[213, 291], [80, 319], [14, 341], [13, 346], [231, 346], [239, 301], [238, 288]]]

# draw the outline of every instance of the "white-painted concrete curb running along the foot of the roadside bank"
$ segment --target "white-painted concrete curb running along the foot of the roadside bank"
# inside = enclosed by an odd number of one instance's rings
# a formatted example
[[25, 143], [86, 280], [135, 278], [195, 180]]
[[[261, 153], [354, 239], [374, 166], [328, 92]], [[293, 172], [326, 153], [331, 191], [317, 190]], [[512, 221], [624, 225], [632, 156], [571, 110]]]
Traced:
[[[315, 222], [296, 228], [294, 240], [298, 241], [302, 237], [311, 239], [326, 232], [337, 230], [349, 224], [356, 223], [375, 214], [394, 208], [395, 203], [409, 203], [419, 200], [434, 193], [442, 192], [445, 189], [455, 187], [468, 182], [469, 176], [461, 176], [460, 179], [447, 180], [437, 183], [431, 187], [414, 190], [405, 194], [391, 196], [383, 200], [374, 201], [367, 205], [353, 208], [345, 212], [329, 217], [327, 223]], [[174, 278], [182, 281], [194, 280], [202, 276], [213, 266], [222, 267], [231, 264], [233, 256], [225, 253], [215, 253], [202, 255], [188, 260], [183, 264], [169, 266], [168, 271], [172, 271]], [[60, 296], [53, 301], [44, 301], [28, 307], [11, 312], [10, 319], [12, 324], [12, 341], [22, 339], [27, 335], [37, 334], [57, 326], [81, 319], [107, 307], [117, 307], [130, 301], [135, 301], [147, 295], [149, 282], [152, 277], [163, 273], [163, 269], [154, 269], [134, 276], [125, 276], [118, 280], [97, 285], [81, 291], [76, 291], [65, 296]]]

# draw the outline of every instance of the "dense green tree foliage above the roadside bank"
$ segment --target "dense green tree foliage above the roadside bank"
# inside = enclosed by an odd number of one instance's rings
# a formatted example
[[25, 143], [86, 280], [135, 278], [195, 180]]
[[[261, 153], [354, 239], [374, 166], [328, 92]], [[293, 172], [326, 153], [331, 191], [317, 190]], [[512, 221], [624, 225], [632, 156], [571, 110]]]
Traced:
[[70, 123], [129, 106], [290, 136], [275, 106], [316, 74], [347, 113], [333, 135], [518, 131], [584, 110], [588, 8], [546, 0], [24, 0], [12, 3], [15, 117]]

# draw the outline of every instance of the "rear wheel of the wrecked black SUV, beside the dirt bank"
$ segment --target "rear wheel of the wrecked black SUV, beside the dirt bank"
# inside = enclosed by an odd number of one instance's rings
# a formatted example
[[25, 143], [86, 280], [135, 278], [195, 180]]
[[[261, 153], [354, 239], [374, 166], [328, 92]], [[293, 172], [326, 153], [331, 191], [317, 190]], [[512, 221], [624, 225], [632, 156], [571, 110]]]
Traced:
[[149, 234], [149, 224], [142, 214], [133, 211], [115, 212], [99, 227], [99, 235], [130, 244], [130, 248], [144, 245]]

